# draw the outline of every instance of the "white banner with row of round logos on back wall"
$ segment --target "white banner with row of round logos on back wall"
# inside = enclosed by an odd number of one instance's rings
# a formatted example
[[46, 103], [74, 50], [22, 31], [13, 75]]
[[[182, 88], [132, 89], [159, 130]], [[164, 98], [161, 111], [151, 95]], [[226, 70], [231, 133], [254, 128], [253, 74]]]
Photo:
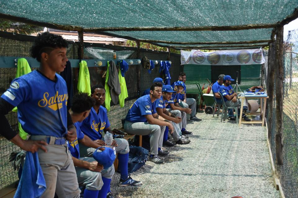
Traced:
[[255, 65], [263, 64], [263, 49], [231, 49], [201, 52], [195, 49], [181, 52], [181, 65]]

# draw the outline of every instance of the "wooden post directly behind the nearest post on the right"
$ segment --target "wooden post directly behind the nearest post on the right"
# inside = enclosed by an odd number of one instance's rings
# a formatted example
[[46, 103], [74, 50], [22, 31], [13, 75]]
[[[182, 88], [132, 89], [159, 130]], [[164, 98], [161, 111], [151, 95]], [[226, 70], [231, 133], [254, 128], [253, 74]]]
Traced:
[[[275, 31], [272, 32], [271, 38], [274, 39]], [[273, 65], [273, 59], [275, 57], [275, 42], [269, 44], [268, 51], [268, 70], [267, 70], [267, 94], [268, 98], [268, 139], [271, 139], [271, 130], [272, 130], [272, 115], [273, 115], [273, 88], [274, 88], [274, 71], [275, 67]]]

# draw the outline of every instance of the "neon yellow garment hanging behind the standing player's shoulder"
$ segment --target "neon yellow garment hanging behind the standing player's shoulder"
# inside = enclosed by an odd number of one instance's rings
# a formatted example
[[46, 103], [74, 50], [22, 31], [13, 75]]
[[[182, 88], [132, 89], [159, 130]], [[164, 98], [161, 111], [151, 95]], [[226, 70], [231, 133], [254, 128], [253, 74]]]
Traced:
[[[19, 78], [20, 76], [28, 74], [30, 72], [31, 72], [31, 68], [26, 58], [19, 58], [17, 68], [16, 68], [16, 78]], [[12, 111], [17, 112], [18, 111], [17, 107], [13, 108]], [[18, 125], [19, 125], [20, 137], [23, 140], [25, 140], [27, 138], [28, 133], [26, 133], [23, 130], [21, 123], [18, 123]]]

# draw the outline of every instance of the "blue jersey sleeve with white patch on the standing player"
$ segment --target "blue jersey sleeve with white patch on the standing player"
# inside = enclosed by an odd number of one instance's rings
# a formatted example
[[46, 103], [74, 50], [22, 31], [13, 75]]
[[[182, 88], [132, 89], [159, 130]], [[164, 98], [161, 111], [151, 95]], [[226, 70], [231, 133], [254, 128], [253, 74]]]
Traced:
[[[11, 105], [17, 106], [22, 101], [29, 100], [30, 92], [29, 84], [25, 80], [17, 78], [11, 82], [10, 87], [1, 97]], [[42, 100], [38, 102], [38, 105], [42, 105], [39, 104], [40, 102]]]

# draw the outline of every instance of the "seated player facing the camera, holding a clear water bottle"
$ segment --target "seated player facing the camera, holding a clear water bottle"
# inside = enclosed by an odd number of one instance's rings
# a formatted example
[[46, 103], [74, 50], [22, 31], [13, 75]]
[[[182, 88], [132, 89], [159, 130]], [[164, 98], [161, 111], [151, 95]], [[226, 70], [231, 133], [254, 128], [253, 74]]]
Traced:
[[[110, 122], [107, 115], [107, 110], [102, 105], [106, 99], [106, 90], [102, 85], [95, 85], [91, 88], [91, 97], [95, 99], [95, 104], [91, 108], [89, 116], [84, 119], [81, 124], [82, 132], [91, 138], [91, 140], [97, 142], [98, 144], [105, 145], [104, 137], [102, 136], [106, 131], [113, 134]], [[129, 157], [129, 144], [127, 140], [115, 138], [111, 146], [115, 146], [116, 153], [118, 153], [118, 162], [120, 170], [120, 182], [118, 186], [138, 186], [142, 182], [133, 180], [128, 175], [128, 157]], [[84, 150], [83, 150], [84, 149]], [[86, 148], [82, 145], [81, 155], [88, 156], [93, 154], [93, 148]]]

